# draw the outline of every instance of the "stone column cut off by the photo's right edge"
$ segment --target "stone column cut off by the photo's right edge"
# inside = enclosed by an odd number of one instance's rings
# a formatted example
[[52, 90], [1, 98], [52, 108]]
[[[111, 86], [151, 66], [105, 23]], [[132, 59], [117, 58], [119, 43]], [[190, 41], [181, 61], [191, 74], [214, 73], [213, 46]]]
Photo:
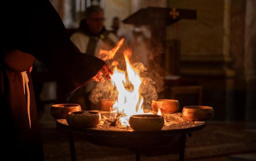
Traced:
[[256, 1], [246, 1], [245, 13], [245, 79], [246, 120], [256, 120]]

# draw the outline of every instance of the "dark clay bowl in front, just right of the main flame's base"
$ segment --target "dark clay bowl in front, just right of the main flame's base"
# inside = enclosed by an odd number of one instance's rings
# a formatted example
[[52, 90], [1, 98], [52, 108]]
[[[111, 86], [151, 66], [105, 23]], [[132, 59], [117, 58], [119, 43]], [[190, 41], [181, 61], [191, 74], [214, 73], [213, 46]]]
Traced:
[[135, 131], [159, 131], [165, 120], [160, 115], [132, 115], [129, 124]]

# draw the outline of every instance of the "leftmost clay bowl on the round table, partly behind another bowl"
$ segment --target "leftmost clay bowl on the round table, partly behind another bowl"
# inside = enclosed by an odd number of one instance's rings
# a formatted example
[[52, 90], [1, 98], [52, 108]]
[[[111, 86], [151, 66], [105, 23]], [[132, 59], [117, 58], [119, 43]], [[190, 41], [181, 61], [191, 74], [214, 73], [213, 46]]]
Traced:
[[81, 111], [79, 104], [53, 104], [50, 108], [54, 118], [67, 118], [68, 112]]

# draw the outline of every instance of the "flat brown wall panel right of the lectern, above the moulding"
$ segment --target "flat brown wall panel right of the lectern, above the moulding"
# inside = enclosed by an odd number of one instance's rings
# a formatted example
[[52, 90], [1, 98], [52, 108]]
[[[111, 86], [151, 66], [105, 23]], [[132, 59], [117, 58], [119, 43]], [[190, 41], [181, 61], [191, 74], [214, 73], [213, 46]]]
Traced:
[[181, 20], [168, 27], [167, 39], [179, 39], [181, 42], [182, 58], [213, 57], [223, 55], [223, 0], [169, 0], [168, 7], [195, 9], [197, 20]]

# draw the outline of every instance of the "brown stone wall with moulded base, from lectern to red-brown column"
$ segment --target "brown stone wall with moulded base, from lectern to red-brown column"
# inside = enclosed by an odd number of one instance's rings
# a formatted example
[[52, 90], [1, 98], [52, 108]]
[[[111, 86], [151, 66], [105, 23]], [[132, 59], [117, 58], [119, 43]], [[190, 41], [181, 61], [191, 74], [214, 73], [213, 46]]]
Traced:
[[203, 86], [203, 104], [215, 108], [215, 119], [232, 120], [236, 104], [230, 52], [234, 45], [230, 34], [236, 31], [230, 30], [231, 4], [230, 0], [168, 1], [168, 7], [197, 10], [196, 20], [181, 20], [168, 27], [167, 38], [180, 41], [180, 74]]

